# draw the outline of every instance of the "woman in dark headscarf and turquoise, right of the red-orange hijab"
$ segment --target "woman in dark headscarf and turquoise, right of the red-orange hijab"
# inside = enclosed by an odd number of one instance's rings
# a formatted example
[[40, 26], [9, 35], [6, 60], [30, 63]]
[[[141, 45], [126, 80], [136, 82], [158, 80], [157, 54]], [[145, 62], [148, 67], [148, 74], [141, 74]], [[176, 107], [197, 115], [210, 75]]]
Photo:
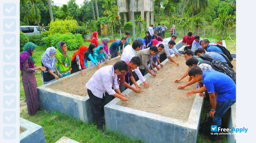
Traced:
[[87, 66], [87, 60], [89, 61], [89, 67], [91, 66], [97, 66], [99, 69], [102, 67], [97, 61], [94, 60], [92, 57], [94, 55], [95, 45], [90, 44], [89, 49], [84, 54], [84, 65]]

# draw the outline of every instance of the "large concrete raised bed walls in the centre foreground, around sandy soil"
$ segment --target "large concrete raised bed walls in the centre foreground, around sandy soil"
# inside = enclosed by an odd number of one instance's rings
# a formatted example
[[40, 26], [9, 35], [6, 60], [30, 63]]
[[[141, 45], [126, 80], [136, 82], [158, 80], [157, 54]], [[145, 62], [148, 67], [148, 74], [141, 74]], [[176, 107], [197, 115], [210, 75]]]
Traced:
[[[162, 64], [167, 62], [168, 59]], [[150, 74], [146, 74], [144, 77], [147, 79]], [[140, 84], [141, 81], [139, 80], [137, 83]], [[132, 92], [131, 89], [126, 89], [123, 94], [130, 92]], [[128, 137], [149, 143], [197, 142], [200, 116], [203, 109], [203, 98], [200, 98], [199, 95], [196, 95], [194, 99], [187, 121], [123, 107], [119, 105], [120, 101], [119, 98], [115, 98], [104, 107], [108, 130], [121, 131]]]

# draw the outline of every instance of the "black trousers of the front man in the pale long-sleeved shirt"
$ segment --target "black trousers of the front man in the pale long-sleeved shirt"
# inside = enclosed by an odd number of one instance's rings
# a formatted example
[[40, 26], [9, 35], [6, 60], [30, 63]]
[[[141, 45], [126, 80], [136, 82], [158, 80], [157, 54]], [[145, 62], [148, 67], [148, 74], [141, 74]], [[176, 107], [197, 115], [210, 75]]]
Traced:
[[105, 92], [105, 96], [103, 94], [103, 98], [99, 98], [95, 96], [90, 89], [87, 89], [87, 93], [90, 97], [90, 103], [96, 119], [97, 129], [103, 129], [104, 106], [113, 100], [114, 96]]

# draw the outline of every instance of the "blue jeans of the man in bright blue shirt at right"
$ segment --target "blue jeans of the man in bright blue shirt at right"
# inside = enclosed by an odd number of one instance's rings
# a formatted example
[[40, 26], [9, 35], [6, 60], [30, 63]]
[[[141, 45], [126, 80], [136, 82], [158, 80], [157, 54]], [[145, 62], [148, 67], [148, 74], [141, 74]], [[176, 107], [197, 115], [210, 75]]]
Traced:
[[217, 125], [218, 128], [222, 126], [222, 116], [224, 113], [230, 108], [236, 101], [228, 100], [228, 101], [217, 101], [216, 111], [214, 113], [213, 125]]

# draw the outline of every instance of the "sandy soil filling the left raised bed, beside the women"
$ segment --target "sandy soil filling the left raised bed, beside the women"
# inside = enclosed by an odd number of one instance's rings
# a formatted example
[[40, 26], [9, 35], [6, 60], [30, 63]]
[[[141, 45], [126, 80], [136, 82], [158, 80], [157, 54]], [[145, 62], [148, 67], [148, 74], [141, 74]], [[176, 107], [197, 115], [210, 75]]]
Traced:
[[[114, 65], [117, 61], [120, 60], [120, 57], [115, 60], [108, 61], [108, 65]], [[106, 64], [103, 64], [102, 66], [107, 66]], [[57, 83], [51, 84], [47, 86], [48, 88], [59, 90], [66, 93], [71, 93], [79, 96], [86, 96], [87, 94], [87, 88], [85, 84], [88, 80], [93, 76], [93, 74], [98, 70], [98, 68], [95, 66], [94, 68], [91, 68], [90, 70], [87, 70], [84, 75], [82, 75], [79, 72], [79, 74], [66, 78], [65, 80], [59, 81]]]

